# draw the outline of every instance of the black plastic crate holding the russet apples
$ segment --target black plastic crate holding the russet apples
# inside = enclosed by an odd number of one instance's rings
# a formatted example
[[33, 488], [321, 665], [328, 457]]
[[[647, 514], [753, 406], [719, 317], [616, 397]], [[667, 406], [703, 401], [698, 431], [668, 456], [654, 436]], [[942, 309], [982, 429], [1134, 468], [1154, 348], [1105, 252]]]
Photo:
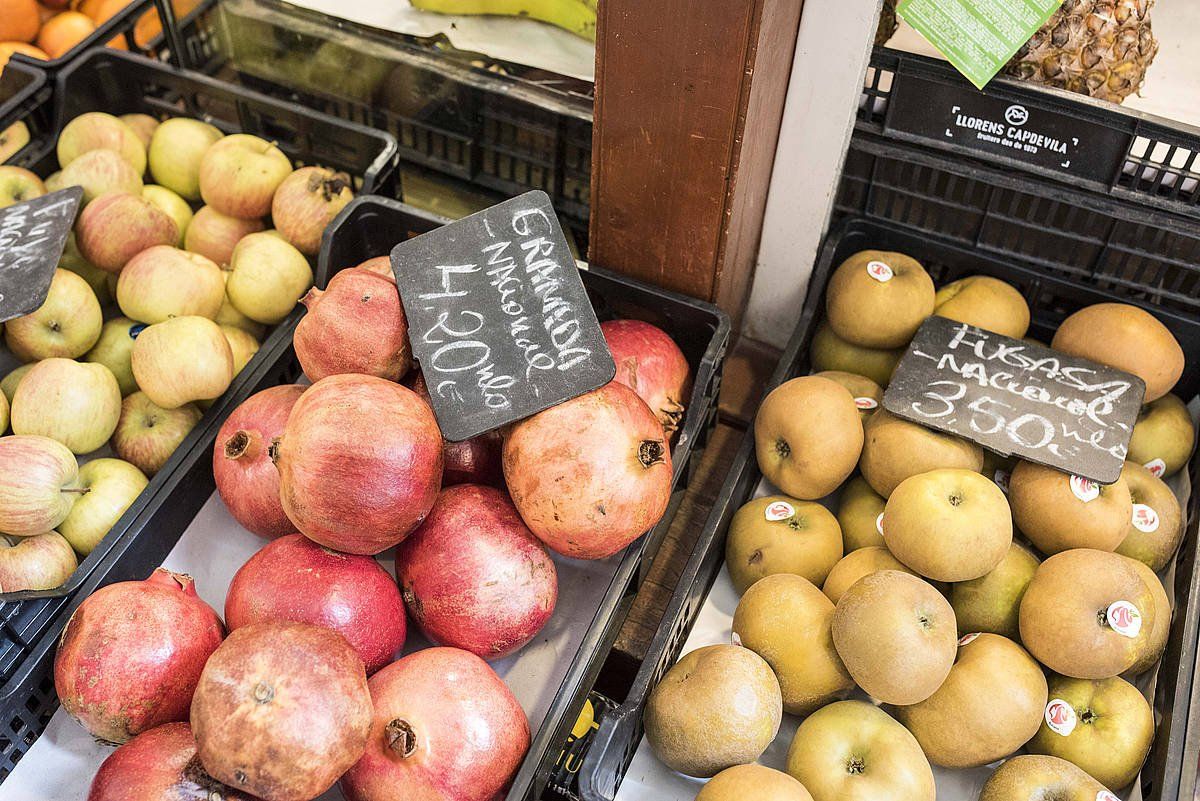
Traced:
[[[784, 350], [764, 391], [790, 378], [810, 372], [809, 347], [817, 321], [823, 315], [824, 287], [829, 275], [848, 255], [864, 249], [900, 251], [919, 260], [937, 284], [985, 273], [1015, 285], [1032, 311], [1031, 335], [1046, 337], [1062, 318], [1084, 306], [1121, 301], [1141, 306], [1171, 329], [1183, 345], [1189, 363], [1200, 361], [1200, 319], [1172, 314], [1146, 302], [1136, 291], [1122, 287], [1092, 287], [1073, 277], [1048, 275], [1036, 264], [1001, 258], [971, 246], [888, 222], [850, 218], [827, 237], [809, 283], [796, 332]], [[1188, 398], [1200, 390], [1192, 371], [1176, 387]], [[1198, 667], [1196, 638], [1200, 626], [1200, 559], [1196, 536], [1200, 529], [1200, 454], [1192, 458], [1192, 496], [1187, 508], [1183, 544], [1175, 559], [1175, 616], [1166, 652], [1159, 667], [1154, 707], [1159, 718], [1154, 745], [1141, 773], [1141, 789], [1148, 801], [1190, 799], [1196, 784], [1196, 731], [1188, 731], [1193, 703], [1192, 683]], [[696, 549], [684, 567], [667, 604], [661, 628], [650, 643], [644, 661], [622, 705], [600, 721], [590, 751], [580, 771], [584, 801], [611, 801], [642, 739], [642, 711], [654, 686], [673, 666], [691, 631], [714, 579], [725, 562], [725, 534], [733, 514], [754, 495], [762, 474], [755, 456], [754, 428], [746, 432], [728, 477], [718, 494], [700, 534]]]

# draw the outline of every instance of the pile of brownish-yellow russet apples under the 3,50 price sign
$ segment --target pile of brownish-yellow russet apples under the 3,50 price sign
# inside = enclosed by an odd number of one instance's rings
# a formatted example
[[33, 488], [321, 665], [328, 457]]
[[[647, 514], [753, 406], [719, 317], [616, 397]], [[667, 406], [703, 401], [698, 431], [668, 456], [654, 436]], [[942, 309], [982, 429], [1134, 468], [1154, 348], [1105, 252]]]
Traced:
[[[1154, 712], [1130, 680], [1165, 648], [1157, 572], [1184, 531], [1163, 478], [1195, 439], [1170, 395], [1183, 351], [1128, 305], [1058, 327], [1052, 348], [1146, 381], [1122, 475], [1102, 486], [880, 408], [931, 314], [1014, 338], [1030, 325], [1004, 282], [935, 291], [914, 259], [862, 252], [829, 281], [817, 372], [757, 412], [758, 465], [785, 494], [731, 523], [734, 645], [685, 655], [644, 715], [662, 763], [715, 777], [703, 801], [932, 801], [931, 765], [1001, 760], [983, 801], [1103, 801], [1141, 770]], [[784, 712], [803, 717], [786, 773], [755, 764]]]

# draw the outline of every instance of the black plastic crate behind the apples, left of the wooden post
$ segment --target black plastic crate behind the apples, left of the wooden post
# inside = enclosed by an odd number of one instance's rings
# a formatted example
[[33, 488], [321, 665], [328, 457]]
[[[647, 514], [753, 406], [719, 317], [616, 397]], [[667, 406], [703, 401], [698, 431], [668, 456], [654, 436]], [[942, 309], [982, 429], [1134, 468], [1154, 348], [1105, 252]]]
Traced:
[[542, 189], [588, 224], [592, 85], [283, 2], [205, 0], [187, 65], [388, 131], [401, 158], [499, 195]]

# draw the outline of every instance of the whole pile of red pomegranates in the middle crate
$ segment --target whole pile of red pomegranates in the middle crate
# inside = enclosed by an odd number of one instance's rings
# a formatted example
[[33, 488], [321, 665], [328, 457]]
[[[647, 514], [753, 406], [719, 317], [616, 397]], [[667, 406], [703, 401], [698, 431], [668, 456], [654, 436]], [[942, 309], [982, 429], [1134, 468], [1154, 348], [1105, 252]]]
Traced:
[[[224, 622], [158, 570], [67, 624], [62, 705], [124, 743], [90, 801], [306, 801], [338, 781], [348, 801], [491, 801], [511, 783], [529, 722], [488, 661], [538, 637], [570, 559], [662, 517], [691, 373], [665, 332], [613, 320], [616, 380], [450, 442], [390, 278], [372, 260], [310, 293], [295, 353], [313, 383], [221, 428], [217, 489], [268, 540]], [[377, 560], [392, 549], [395, 578]], [[433, 648], [397, 660], [409, 616]]]

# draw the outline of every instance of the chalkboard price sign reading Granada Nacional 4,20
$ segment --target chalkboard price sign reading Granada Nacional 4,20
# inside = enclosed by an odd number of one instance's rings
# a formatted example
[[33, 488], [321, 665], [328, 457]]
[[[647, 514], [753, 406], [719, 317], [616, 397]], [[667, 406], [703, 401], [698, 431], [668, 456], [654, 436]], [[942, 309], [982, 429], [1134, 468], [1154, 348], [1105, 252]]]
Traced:
[[391, 269], [451, 441], [590, 392], [617, 373], [545, 192], [401, 242]]

